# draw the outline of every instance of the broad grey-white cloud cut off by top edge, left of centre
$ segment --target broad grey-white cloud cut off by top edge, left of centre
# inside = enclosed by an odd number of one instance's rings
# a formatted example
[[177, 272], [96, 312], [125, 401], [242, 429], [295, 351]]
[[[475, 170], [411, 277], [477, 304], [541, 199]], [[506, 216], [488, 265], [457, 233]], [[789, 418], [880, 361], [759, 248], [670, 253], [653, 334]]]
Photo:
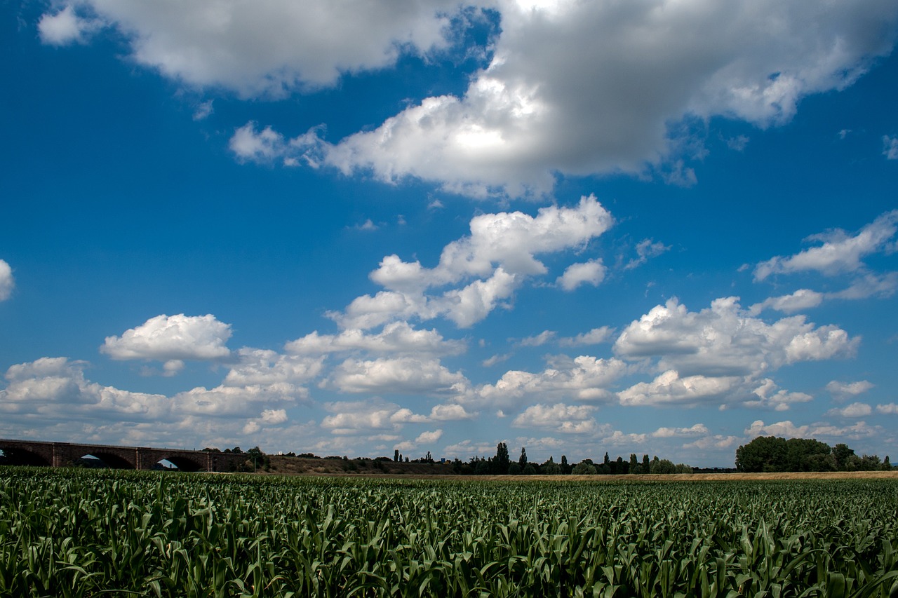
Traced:
[[[458, 10], [454, 0], [77, 5], [115, 26], [136, 63], [191, 86], [222, 86], [244, 97], [331, 85], [344, 73], [392, 66], [403, 52], [446, 48], [451, 14]], [[42, 22], [48, 18], [59, 17], [44, 15]]]

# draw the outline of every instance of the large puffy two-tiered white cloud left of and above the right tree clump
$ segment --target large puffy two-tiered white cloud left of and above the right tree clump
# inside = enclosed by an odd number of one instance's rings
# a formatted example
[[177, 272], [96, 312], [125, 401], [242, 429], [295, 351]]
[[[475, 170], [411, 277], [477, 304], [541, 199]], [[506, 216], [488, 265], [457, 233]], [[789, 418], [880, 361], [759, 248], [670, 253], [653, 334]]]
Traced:
[[785, 410], [812, 397], [778, 389], [765, 374], [797, 362], [852, 356], [858, 341], [804, 316], [769, 324], [743, 310], [735, 297], [716, 299], [701, 312], [671, 299], [631, 322], [615, 341], [618, 356], [647, 359], [662, 370], [654, 380], [620, 391], [618, 398], [623, 405]]

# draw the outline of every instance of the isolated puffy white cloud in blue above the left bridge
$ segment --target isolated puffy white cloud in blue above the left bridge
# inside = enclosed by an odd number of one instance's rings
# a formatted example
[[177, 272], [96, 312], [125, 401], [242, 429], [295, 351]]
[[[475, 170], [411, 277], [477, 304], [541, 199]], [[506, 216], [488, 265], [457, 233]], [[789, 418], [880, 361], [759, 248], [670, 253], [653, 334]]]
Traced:
[[113, 359], [223, 359], [231, 354], [225, 347], [231, 325], [204, 316], [159, 315], [120, 337], [106, 337], [100, 350]]

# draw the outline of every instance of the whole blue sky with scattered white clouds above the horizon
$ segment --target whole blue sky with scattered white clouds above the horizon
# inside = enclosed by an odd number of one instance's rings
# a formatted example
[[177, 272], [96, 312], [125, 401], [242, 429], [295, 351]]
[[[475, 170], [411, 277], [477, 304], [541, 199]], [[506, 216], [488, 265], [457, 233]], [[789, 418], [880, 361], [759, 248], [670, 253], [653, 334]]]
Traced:
[[0, 4], [0, 437], [898, 456], [898, 4]]

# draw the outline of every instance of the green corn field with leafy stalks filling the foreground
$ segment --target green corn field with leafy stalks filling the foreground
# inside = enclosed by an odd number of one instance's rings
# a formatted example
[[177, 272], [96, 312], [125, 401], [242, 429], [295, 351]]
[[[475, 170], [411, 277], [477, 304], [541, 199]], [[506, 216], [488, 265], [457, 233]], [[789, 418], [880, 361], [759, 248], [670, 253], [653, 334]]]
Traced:
[[2, 596], [898, 596], [898, 481], [0, 468]]

